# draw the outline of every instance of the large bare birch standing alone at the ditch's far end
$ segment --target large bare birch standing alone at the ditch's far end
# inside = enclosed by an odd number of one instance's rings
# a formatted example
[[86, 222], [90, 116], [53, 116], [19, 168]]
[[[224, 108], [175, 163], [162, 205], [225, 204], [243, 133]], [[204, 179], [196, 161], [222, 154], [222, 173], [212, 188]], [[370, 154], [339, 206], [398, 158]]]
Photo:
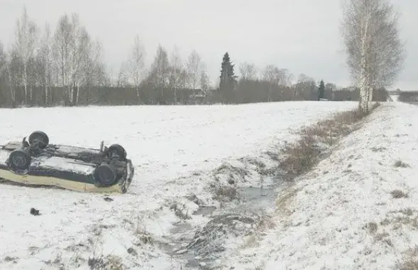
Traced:
[[392, 86], [402, 70], [398, 18], [387, 0], [343, 0], [341, 34], [351, 77], [360, 88], [362, 112], [370, 110], [373, 89]]

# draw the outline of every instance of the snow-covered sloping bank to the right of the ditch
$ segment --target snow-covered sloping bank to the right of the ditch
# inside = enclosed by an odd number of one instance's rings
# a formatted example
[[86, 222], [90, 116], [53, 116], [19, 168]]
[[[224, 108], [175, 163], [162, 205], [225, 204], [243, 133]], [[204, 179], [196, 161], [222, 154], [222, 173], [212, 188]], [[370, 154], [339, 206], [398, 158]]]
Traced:
[[280, 193], [276, 226], [255, 247], [229, 251], [220, 269], [396, 269], [418, 242], [417, 112], [383, 104]]

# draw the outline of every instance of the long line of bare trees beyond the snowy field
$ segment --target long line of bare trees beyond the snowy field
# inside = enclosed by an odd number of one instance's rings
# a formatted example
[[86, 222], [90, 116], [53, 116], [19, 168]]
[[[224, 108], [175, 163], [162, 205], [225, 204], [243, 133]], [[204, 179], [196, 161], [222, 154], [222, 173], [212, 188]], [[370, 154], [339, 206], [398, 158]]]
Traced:
[[[117, 74], [109, 72], [99, 40], [82, 26], [77, 13], [62, 15], [55, 30], [40, 28], [26, 8], [16, 20], [15, 40], [0, 42], [0, 107], [51, 107], [130, 104], [240, 104], [290, 100], [357, 100], [358, 90], [316, 82], [301, 74], [297, 81], [285, 68], [258, 69], [241, 63], [236, 75], [229, 53], [221, 59], [214, 85], [199, 53], [186, 60], [179, 49], [159, 45], [145, 67], [139, 36]], [[374, 99], [385, 99], [385, 90]], [[378, 92], [379, 92], [378, 91]], [[386, 99], [385, 99], [386, 100]]]

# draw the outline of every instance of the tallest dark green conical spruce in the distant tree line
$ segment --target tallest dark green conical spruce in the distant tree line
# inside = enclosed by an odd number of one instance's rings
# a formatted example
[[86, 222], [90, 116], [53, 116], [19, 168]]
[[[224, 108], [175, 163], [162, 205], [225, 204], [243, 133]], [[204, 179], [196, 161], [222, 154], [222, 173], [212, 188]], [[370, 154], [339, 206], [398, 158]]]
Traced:
[[233, 102], [233, 90], [236, 86], [236, 75], [233, 72], [233, 64], [229, 58], [229, 53], [224, 54], [221, 63], [221, 76], [219, 81], [219, 92], [223, 103]]

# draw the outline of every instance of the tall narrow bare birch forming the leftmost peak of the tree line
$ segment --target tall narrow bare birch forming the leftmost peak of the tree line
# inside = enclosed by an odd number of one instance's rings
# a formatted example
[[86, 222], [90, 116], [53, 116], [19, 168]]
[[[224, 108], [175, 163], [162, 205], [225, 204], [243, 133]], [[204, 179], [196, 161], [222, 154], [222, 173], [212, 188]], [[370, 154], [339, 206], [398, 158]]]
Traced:
[[[30, 18], [26, 7], [23, 8], [21, 18], [16, 21], [16, 53], [22, 64], [22, 83], [25, 92], [25, 102], [28, 104], [29, 100], [33, 99], [32, 87], [28, 93], [28, 76], [29, 65], [31, 60], [35, 58], [35, 49], [38, 41], [38, 28]], [[29, 94], [29, 95], [28, 95]]]

